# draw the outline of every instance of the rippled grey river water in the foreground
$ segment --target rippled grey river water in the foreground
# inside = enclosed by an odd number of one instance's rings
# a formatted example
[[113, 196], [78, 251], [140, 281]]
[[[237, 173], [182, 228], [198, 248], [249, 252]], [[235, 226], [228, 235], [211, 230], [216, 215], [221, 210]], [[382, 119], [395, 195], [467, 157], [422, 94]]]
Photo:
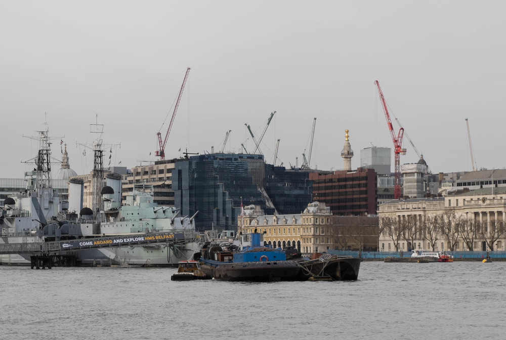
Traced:
[[173, 268], [0, 266], [0, 338], [486, 339], [506, 262], [362, 262], [353, 282], [171, 281]]

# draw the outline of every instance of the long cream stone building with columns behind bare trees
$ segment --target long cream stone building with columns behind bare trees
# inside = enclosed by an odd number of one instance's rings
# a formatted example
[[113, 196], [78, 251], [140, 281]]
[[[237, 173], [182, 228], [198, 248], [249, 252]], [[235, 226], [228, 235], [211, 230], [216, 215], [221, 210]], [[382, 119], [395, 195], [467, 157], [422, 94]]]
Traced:
[[506, 187], [379, 207], [379, 250], [505, 250]]

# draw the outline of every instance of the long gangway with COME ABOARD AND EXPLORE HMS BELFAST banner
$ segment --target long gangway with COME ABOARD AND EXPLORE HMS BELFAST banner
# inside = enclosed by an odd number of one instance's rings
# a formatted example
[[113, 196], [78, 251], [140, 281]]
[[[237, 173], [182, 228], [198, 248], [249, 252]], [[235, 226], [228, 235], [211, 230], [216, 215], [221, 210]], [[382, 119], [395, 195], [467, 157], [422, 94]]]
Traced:
[[46, 254], [66, 252], [80, 249], [135, 246], [143, 244], [162, 243], [168, 246], [191, 242], [196, 239], [193, 230], [178, 230], [171, 232], [128, 234], [116, 236], [98, 236], [64, 241], [31, 242], [31, 243], [2, 243], [0, 254], [32, 253]]

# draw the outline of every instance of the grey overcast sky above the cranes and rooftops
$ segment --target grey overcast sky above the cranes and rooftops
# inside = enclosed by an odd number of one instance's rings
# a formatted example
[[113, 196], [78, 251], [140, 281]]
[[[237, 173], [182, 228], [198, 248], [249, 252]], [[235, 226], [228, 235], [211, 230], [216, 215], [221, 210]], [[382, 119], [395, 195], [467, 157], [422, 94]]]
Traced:
[[[244, 123], [260, 135], [276, 111], [268, 162], [280, 139], [278, 158], [301, 165], [316, 117], [310, 165], [342, 169], [348, 129], [356, 168], [361, 149], [393, 146], [377, 79], [395, 134], [393, 115], [433, 172], [471, 171], [466, 117], [477, 166], [502, 168], [504, 13], [504, 1], [0, 0], [0, 177], [33, 167], [22, 135], [45, 119], [53, 156], [65, 136], [78, 174], [92, 170], [76, 141], [93, 141], [96, 115], [104, 143], [121, 141], [111, 165], [155, 160], [187, 67], [166, 158], [217, 150], [229, 130], [226, 150], [251, 152]], [[403, 145], [401, 164], [416, 162]]]

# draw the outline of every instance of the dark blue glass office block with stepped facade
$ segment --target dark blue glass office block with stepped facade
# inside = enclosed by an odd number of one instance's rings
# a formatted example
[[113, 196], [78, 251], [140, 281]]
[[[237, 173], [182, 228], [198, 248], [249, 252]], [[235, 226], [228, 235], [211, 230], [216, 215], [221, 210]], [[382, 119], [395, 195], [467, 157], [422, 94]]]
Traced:
[[236, 227], [244, 205], [267, 214], [297, 214], [311, 200], [308, 171], [266, 164], [260, 154], [211, 153], [177, 162], [172, 176], [175, 206], [195, 217], [197, 230]]

